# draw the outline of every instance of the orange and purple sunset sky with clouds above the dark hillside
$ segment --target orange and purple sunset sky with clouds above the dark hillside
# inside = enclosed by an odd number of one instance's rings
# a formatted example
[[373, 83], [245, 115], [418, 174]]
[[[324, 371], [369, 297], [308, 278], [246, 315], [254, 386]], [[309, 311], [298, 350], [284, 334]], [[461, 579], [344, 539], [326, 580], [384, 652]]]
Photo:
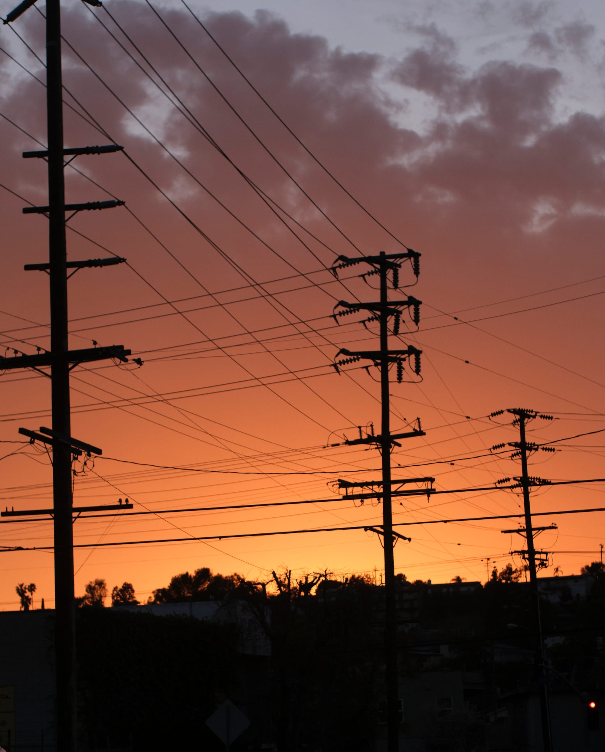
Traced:
[[[2, 0], [0, 15], [16, 4]], [[512, 407], [555, 417], [531, 423], [531, 441], [560, 450], [533, 456], [531, 475], [605, 476], [602, 5], [188, 5], [193, 13], [181, 0], [62, 4], [71, 45], [63, 47], [65, 146], [115, 141], [127, 155], [80, 156], [79, 172], [65, 170], [68, 202], [126, 201], [73, 217], [68, 258], [128, 262], [70, 280], [70, 345], [123, 344], [144, 361], [72, 371], [72, 434], [103, 450], [94, 463], [76, 463], [74, 504], [128, 497], [134, 511], [157, 512], [80, 519], [74, 542], [192, 538], [76, 549], [76, 594], [105, 578], [109, 590], [132, 582], [146, 600], [201, 566], [263, 581], [281, 566], [297, 577], [375, 571], [379, 580], [382, 547], [363, 530], [193, 540], [381, 522], [379, 504], [356, 507], [333, 487], [336, 478], [375, 478], [380, 467], [377, 450], [328, 446], [355, 438], [356, 426], [378, 432], [380, 418], [378, 370], [331, 367], [340, 347], [378, 346], [362, 316], [339, 325], [330, 317], [339, 300], [377, 296], [376, 277], [357, 276], [361, 265], [334, 279], [339, 254], [394, 253], [400, 243], [422, 254], [418, 284], [393, 294], [422, 300], [420, 328], [406, 324], [392, 338], [393, 347], [424, 351], [422, 381], [409, 371], [403, 384], [394, 379], [391, 423], [395, 431], [419, 417], [426, 436], [394, 450], [394, 477], [430, 475], [445, 491], [519, 475], [506, 454], [488, 453], [517, 437], [505, 417], [488, 419]], [[47, 203], [45, 163], [21, 158], [46, 144], [44, 66], [34, 55], [44, 60], [41, 14], [39, 0], [0, 26], [7, 354], [50, 347], [48, 277], [23, 271], [47, 260], [47, 220], [21, 212]], [[414, 281], [404, 265], [401, 284]], [[21, 426], [50, 426], [49, 381], [35, 371], [0, 375], [2, 441], [20, 441]], [[2, 447], [2, 508], [50, 507], [47, 453]], [[598, 483], [540, 489], [532, 505], [605, 507], [603, 491]], [[303, 499], [333, 501], [222, 509]], [[509, 490], [459, 491], [396, 500], [394, 522], [521, 506]], [[212, 510], [162, 514], [196, 507]], [[552, 552], [541, 575], [579, 573], [600, 558], [603, 513], [537, 520], [558, 524], [537, 539]], [[522, 538], [500, 532], [515, 526], [401, 528], [412, 542], [397, 544], [397, 572], [485, 581], [494, 562], [521, 565], [509, 552]], [[0, 524], [0, 546], [48, 545], [50, 518]], [[52, 552], [1, 553], [0, 572], [0, 609], [18, 608], [19, 582], [37, 585], [35, 607], [41, 597], [52, 607]]]

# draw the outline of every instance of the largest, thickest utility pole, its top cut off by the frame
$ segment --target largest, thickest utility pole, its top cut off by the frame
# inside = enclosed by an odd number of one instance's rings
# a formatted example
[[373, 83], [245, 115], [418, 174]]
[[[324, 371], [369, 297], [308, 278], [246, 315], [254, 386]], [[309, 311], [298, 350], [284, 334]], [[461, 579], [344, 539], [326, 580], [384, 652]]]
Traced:
[[[89, 5], [101, 5], [98, 0], [85, 0]], [[13, 23], [35, 0], [24, 0], [8, 14], [4, 23]], [[53, 447], [53, 520], [55, 567], [55, 671], [56, 671], [56, 729], [57, 749], [74, 752], [76, 749], [76, 696], [75, 696], [75, 634], [74, 634], [74, 556], [73, 507], [71, 495], [73, 455], [81, 453], [83, 442], [71, 438], [69, 372], [81, 362], [107, 358], [127, 362], [130, 350], [122, 345], [92, 347], [86, 350], [68, 349], [68, 276], [79, 268], [108, 266], [126, 259], [87, 259], [67, 262], [65, 225], [78, 211], [114, 208], [122, 201], [65, 204], [65, 155], [72, 159], [82, 154], [101, 154], [119, 151], [123, 147], [111, 144], [105, 147], [63, 147], [62, 69], [61, 69], [61, 9], [60, 0], [46, 2], [46, 53], [47, 53], [47, 142], [44, 151], [25, 152], [25, 158], [45, 159], [48, 165], [48, 205], [27, 207], [24, 214], [44, 214], [48, 218], [49, 262], [26, 265], [26, 270], [46, 271], [50, 277], [50, 353], [37, 355], [19, 353], [15, 357], [0, 358], [0, 369], [41, 368], [50, 365], [51, 406], [53, 427], [43, 435], [30, 435], [31, 441], [44, 441]], [[71, 160], [70, 160], [71, 161]], [[71, 214], [65, 219], [65, 211]], [[74, 269], [68, 275], [68, 268]], [[139, 364], [141, 363], [138, 360]], [[26, 430], [26, 429], [23, 429]], [[45, 432], [41, 429], [42, 434]], [[50, 438], [49, 438], [50, 437]], [[94, 450], [95, 447], [84, 444]], [[89, 453], [88, 450], [87, 453]], [[99, 450], [100, 452], [100, 450]]]

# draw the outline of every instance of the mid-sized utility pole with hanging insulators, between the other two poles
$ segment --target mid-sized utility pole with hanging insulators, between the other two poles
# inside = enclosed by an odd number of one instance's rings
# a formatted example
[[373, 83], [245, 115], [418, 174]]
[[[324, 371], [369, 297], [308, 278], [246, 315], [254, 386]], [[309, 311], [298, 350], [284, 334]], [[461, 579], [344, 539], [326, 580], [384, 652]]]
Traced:
[[[371, 267], [369, 272], [361, 275], [366, 278], [374, 274], [379, 275], [380, 300], [371, 303], [348, 303], [340, 301], [334, 317], [353, 314], [357, 311], [369, 311], [371, 314], [366, 322], [378, 321], [380, 326], [380, 349], [379, 350], [340, 350], [340, 355], [347, 356], [335, 362], [336, 371], [339, 366], [347, 365], [360, 359], [371, 360], [380, 368], [380, 392], [381, 392], [381, 431], [380, 435], [368, 435], [366, 438], [356, 439], [354, 444], [375, 444], [382, 454], [382, 535], [385, 550], [385, 684], [387, 699], [387, 749], [388, 752], [399, 750], [399, 687], [397, 671], [397, 604], [395, 599], [395, 564], [393, 547], [396, 537], [393, 534], [393, 512], [391, 507], [391, 448], [397, 444], [396, 438], [406, 436], [421, 436], [421, 429], [406, 432], [405, 434], [391, 435], [391, 401], [389, 394], [389, 368], [395, 365], [397, 368], [397, 381], [403, 381], [403, 363], [414, 358], [413, 371], [420, 374], [421, 350], [409, 346], [405, 350], [389, 350], [389, 333], [399, 334], [402, 310], [407, 308], [412, 313], [412, 320], [418, 323], [420, 318], [421, 302], [412, 296], [405, 300], [389, 301], [388, 299], [388, 276], [391, 273], [394, 290], [399, 288], [399, 271], [403, 261], [410, 260], [415, 276], [419, 273], [420, 253], [408, 250], [406, 253], [380, 253], [379, 256], [362, 256], [349, 259], [347, 256], [339, 256], [333, 271], [337, 274], [339, 268], [345, 268], [354, 264], [364, 263]], [[393, 327], [389, 332], [389, 323], [393, 320]], [[378, 532], [378, 531], [375, 531]]]

